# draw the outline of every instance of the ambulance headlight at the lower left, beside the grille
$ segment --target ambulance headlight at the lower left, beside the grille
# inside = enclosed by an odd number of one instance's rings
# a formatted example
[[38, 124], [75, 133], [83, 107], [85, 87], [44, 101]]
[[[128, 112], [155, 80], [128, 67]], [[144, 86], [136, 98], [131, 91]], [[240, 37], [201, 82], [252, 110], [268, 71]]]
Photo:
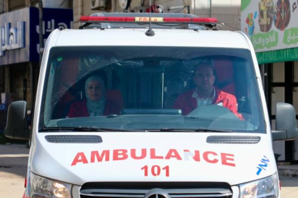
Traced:
[[29, 175], [30, 198], [72, 198], [71, 187], [70, 184], [54, 182], [31, 172]]

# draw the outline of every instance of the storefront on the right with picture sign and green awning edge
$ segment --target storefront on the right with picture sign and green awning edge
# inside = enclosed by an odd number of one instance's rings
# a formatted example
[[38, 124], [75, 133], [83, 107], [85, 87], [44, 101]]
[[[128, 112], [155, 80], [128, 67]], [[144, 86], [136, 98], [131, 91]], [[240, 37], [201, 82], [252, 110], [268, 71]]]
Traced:
[[[298, 0], [241, 0], [241, 31], [250, 38], [272, 129], [277, 102], [293, 104], [298, 119]], [[298, 140], [274, 142], [279, 161], [298, 163]]]

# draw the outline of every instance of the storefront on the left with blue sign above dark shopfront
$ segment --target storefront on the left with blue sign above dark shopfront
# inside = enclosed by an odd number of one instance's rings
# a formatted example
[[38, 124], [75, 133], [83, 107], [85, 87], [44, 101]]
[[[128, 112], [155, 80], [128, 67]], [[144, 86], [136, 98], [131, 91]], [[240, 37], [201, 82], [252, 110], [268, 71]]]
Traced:
[[[44, 8], [44, 43], [54, 29], [72, 28], [72, 23], [73, 9]], [[39, 51], [38, 8], [26, 7], [0, 14], [0, 103], [8, 105], [12, 101], [25, 100], [28, 110], [32, 109], [39, 74]]]

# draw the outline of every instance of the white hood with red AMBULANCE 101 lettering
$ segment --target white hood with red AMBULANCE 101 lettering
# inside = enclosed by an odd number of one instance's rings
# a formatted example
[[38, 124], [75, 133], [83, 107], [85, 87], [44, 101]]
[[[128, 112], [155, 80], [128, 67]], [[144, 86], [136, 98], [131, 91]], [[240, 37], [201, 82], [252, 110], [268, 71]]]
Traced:
[[[67, 133], [71, 134], [78, 135]], [[99, 135], [100, 143], [53, 143], [46, 140], [47, 135], [58, 135], [56, 138], [59, 139], [59, 135], [66, 133], [38, 133], [31, 149], [30, 170], [75, 185], [103, 181], [227, 182], [237, 185], [270, 176], [277, 170], [270, 138], [266, 134], [82, 134]], [[237, 136], [242, 140], [229, 141]], [[249, 143], [251, 137], [255, 140]]]

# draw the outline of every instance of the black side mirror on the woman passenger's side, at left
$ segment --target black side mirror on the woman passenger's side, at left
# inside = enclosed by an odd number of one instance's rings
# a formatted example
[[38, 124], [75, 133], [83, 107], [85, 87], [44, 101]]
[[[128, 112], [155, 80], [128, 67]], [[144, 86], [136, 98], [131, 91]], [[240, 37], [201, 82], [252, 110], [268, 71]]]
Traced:
[[30, 139], [27, 121], [27, 102], [12, 102], [8, 107], [4, 135], [11, 139]]

